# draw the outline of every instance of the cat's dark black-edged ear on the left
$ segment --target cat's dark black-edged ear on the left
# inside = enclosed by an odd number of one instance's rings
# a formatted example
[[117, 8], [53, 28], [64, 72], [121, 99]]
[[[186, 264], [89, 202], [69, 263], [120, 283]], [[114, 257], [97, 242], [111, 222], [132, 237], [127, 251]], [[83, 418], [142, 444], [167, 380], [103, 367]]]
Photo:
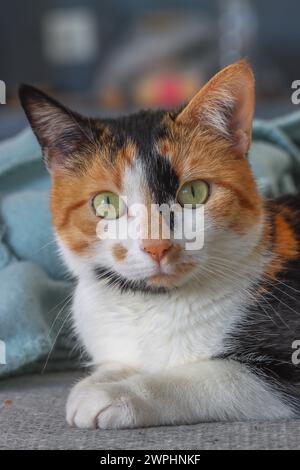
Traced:
[[89, 120], [35, 87], [21, 85], [19, 96], [49, 171], [70, 167], [93, 141]]

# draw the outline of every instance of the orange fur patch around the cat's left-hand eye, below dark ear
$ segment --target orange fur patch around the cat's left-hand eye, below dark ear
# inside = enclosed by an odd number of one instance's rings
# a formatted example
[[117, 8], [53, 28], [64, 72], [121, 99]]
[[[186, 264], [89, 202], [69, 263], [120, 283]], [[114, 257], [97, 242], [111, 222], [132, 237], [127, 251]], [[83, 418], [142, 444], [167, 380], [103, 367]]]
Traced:
[[59, 236], [77, 254], [86, 253], [91, 245], [99, 242], [96, 236], [99, 218], [92, 210], [91, 199], [102, 191], [121, 194], [124, 166], [135, 155], [131, 143], [117, 152], [113, 163], [106, 151], [104, 148], [93, 155], [83, 174], [57, 171], [52, 175], [53, 224]]

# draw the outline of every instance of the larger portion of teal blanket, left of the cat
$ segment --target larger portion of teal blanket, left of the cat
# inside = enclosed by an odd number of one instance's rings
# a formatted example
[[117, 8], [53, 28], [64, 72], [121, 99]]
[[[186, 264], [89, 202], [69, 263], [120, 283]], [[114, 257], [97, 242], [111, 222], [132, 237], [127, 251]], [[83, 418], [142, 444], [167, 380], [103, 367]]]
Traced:
[[77, 365], [49, 189], [31, 129], [0, 144], [0, 377]]

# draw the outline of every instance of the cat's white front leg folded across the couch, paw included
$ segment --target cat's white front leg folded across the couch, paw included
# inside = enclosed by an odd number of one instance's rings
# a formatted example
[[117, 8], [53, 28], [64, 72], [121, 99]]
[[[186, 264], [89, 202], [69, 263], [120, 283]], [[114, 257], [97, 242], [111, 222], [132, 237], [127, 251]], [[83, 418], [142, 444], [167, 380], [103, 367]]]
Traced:
[[84, 402], [70, 423], [78, 427], [120, 429], [293, 416], [267, 382], [230, 360], [135, 374], [119, 382], [94, 383], [82, 392]]

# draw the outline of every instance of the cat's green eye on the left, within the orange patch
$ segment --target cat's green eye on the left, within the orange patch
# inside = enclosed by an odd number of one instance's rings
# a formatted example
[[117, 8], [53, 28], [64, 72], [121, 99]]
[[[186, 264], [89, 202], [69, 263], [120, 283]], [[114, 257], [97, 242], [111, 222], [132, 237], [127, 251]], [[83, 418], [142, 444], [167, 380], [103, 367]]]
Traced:
[[97, 194], [92, 205], [96, 215], [103, 219], [118, 219], [126, 212], [126, 204], [123, 199], [110, 192]]

